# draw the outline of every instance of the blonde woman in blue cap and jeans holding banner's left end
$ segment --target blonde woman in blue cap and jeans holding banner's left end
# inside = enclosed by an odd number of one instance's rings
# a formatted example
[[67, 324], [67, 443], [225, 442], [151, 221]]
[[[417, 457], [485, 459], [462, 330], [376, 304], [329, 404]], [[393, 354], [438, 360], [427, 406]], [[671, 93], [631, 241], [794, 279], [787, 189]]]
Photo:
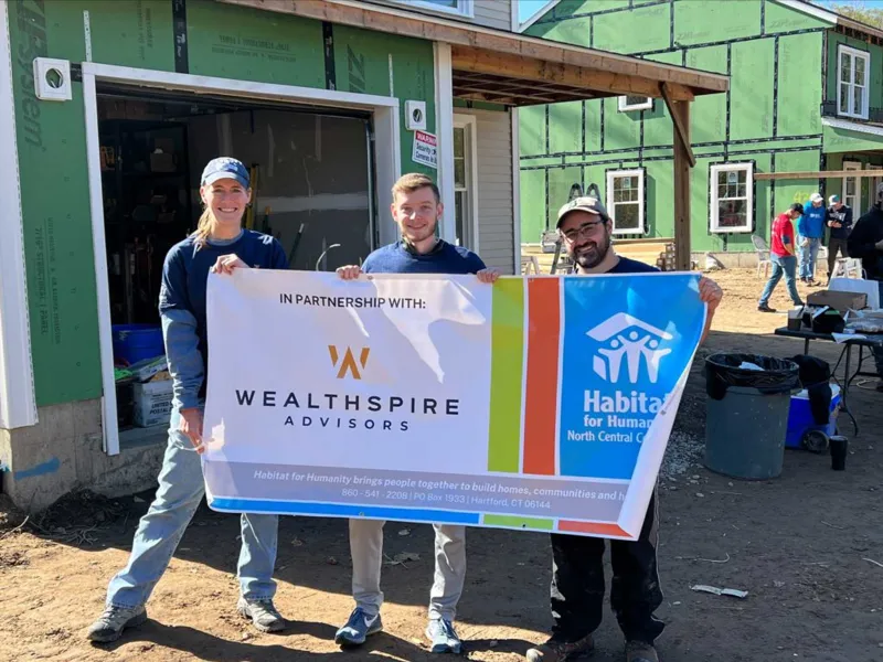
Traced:
[[[248, 170], [236, 159], [210, 161], [202, 172], [200, 195], [205, 211], [196, 232], [166, 256], [159, 310], [174, 392], [169, 442], [157, 495], [135, 533], [128, 564], [110, 580], [105, 611], [88, 630], [92, 641], [115, 641], [124, 629], [147, 620], [145, 604], [204, 493], [200, 453], [208, 366], [209, 273], [288, 266], [285, 250], [275, 238], [242, 226], [252, 197], [249, 184]], [[242, 515], [237, 610], [264, 632], [285, 628], [285, 620], [273, 605], [277, 532], [276, 515]]]

